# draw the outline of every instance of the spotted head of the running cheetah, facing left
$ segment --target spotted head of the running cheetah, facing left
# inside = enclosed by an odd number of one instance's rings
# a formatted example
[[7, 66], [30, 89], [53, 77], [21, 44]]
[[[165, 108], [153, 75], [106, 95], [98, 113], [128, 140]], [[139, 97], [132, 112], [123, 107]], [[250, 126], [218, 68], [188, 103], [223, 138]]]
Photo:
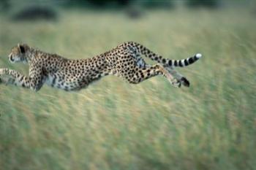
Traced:
[[23, 44], [20, 45], [18, 44], [15, 47], [12, 47], [11, 53], [9, 55], [9, 60], [11, 63], [17, 63], [17, 62], [26, 62], [26, 55], [29, 50], [29, 45]]

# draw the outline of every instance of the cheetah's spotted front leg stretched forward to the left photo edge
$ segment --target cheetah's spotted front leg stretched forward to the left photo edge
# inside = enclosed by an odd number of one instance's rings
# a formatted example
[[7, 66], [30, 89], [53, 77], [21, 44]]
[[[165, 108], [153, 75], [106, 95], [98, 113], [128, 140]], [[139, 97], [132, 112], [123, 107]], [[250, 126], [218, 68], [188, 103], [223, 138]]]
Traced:
[[[35, 79], [37, 77], [38, 79]], [[31, 76], [26, 77], [23, 74], [20, 74], [16, 70], [12, 69], [0, 69], [0, 83], [4, 83], [5, 85], [18, 85], [23, 88], [31, 88], [31, 90], [39, 90], [42, 85], [42, 76]]]

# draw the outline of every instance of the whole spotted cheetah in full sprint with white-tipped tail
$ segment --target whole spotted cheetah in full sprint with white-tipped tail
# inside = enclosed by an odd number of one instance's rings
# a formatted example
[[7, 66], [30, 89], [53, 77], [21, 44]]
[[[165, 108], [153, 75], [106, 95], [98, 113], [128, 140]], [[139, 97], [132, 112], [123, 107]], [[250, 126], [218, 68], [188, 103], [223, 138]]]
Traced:
[[[149, 65], [143, 60], [145, 55], [157, 64]], [[109, 74], [121, 77], [132, 84], [161, 74], [175, 87], [189, 87], [186, 77], [176, 72], [176, 66], [188, 66], [201, 57], [170, 60], [153, 53], [137, 42], [124, 42], [113, 50], [86, 59], [67, 59], [57, 54], [37, 50], [26, 44], [12, 47], [9, 55], [11, 63], [29, 63], [29, 76], [12, 69], [0, 69], [0, 83], [18, 85], [38, 91], [47, 84], [63, 90], [80, 90], [91, 82]]]

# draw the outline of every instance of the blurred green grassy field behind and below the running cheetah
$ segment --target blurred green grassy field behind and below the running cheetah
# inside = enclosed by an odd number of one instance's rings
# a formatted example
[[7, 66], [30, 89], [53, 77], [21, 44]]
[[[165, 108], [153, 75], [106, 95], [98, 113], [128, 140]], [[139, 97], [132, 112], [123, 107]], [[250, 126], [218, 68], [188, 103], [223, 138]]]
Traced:
[[24, 74], [28, 66], [7, 58], [18, 42], [67, 58], [128, 40], [166, 58], [204, 55], [178, 69], [190, 88], [163, 77], [129, 85], [111, 76], [74, 93], [0, 85], [1, 170], [256, 169], [256, 23], [247, 9], [0, 19], [0, 68]]

